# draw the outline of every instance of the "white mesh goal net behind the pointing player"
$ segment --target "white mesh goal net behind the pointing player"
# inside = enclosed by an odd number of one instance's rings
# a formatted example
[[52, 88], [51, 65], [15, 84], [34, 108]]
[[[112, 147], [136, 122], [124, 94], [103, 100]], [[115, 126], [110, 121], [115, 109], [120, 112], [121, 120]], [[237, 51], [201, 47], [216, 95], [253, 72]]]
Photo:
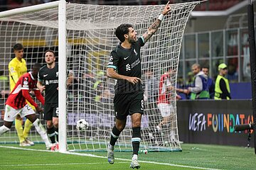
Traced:
[[[66, 76], [72, 76], [73, 84], [67, 89], [67, 97], [60, 100], [66, 107], [65, 128], [69, 151], [105, 150], [110, 141], [114, 125], [114, 79], [106, 77], [110, 52], [119, 43], [114, 29], [121, 23], [131, 23], [141, 36], [156, 20], [164, 6], [100, 6], [88, 4], [66, 4], [66, 33], [58, 34], [58, 3], [55, 1], [38, 6], [21, 8], [0, 13], [0, 71], [2, 77], [9, 77], [8, 64], [14, 57], [12, 47], [16, 42], [24, 46], [24, 59], [28, 70], [35, 62], [46, 64], [43, 52], [52, 49], [57, 54], [57, 62], [65, 59]], [[188, 17], [199, 2], [171, 4], [171, 11], [165, 16], [161, 27], [146, 42], [141, 50], [142, 84], [144, 84], [144, 115], [142, 116], [142, 149], [148, 151], [180, 151], [176, 116], [176, 78], [183, 31]], [[58, 38], [64, 36], [66, 56], [58, 55], [61, 50]], [[59, 62], [61, 67], [61, 63]], [[169, 93], [171, 116], [161, 129], [156, 128], [163, 120], [157, 98], [161, 75], [171, 69], [169, 84], [174, 87]], [[66, 77], [60, 77], [66, 79]], [[8, 80], [1, 79], [1, 91], [8, 92]], [[59, 94], [65, 91], [59, 91]], [[2, 96], [1, 120], [4, 118]], [[43, 115], [38, 115], [43, 122]], [[86, 130], [77, 130], [76, 122], [85, 119], [89, 123]], [[29, 137], [33, 142], [41, 138], [32, 128]], [[132, 150], [132, 128], [128, 116], [127, 126], [119, 136], [116, 150]], [[61, 140], [61, 139], [60, 139]], [[16, 130], [0, 137], [1, 143], [18, 142]]]

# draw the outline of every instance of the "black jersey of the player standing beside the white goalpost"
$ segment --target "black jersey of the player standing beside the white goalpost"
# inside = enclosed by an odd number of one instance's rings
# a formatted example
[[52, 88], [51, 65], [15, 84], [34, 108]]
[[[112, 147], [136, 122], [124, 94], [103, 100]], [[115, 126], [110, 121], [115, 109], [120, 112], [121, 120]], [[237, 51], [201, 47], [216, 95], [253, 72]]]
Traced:
[[46, 103], [58, 103], [58, 64], [53, 69], [43, 66], [38, 72], [38, 81], [46, 86]]

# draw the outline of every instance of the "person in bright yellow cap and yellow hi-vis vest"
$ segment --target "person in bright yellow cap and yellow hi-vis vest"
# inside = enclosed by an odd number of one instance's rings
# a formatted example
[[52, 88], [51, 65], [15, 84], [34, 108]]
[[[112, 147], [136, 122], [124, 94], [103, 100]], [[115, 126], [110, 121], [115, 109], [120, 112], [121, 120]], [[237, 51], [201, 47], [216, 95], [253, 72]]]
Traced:
[[228, 74], [228, 67], [225, 63], [222, 63], [218, 66], [218, 77], [215, 81], [215, 100], [227, 99], [230, 100], [230, 86], [228, 79], [225, 78], [225, 75]]

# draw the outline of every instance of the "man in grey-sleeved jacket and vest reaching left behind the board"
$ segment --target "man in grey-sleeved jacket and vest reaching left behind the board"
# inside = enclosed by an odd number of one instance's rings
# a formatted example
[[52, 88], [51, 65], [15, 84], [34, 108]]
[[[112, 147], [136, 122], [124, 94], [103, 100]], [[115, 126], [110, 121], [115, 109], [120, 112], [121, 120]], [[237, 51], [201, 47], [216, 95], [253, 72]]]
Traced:
[[191, 99], [208, 99], [210, 98], [207, 76], [201, 70], [200, 64], [193, 64], [192, 72], [195, 76], [193, 86], [188, 87], [188, 89], [176, 89], [178, 92], [184, 94], [191, 94]]

